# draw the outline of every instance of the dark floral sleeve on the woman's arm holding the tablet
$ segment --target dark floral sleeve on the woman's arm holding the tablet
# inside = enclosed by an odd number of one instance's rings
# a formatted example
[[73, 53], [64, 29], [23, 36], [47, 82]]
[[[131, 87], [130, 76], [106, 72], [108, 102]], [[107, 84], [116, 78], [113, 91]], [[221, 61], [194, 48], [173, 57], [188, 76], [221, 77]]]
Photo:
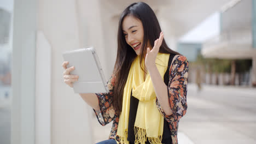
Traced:
[[115, 110], [113, 107], [113, 90], [114, 90], [114, 80], [115, 77], [112, 75], [108, 80], [108, 93], [95, 93], [98, 97], [98, 103], [100, 105], [100, 110], [94, 110], [98, 122], [101, 125], [106, 125], [113, 121], [115, 116]]

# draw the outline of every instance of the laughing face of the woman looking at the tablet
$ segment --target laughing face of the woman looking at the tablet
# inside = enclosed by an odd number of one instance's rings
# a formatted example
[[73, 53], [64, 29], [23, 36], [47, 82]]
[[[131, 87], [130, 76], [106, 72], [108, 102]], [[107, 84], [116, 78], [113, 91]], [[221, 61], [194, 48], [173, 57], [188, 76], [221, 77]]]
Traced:
[[126, 16], [123, 21], [123, 33], [126, 43], [129, 44], [137, 55], [140, 55], [144, 31], [141, 20]]

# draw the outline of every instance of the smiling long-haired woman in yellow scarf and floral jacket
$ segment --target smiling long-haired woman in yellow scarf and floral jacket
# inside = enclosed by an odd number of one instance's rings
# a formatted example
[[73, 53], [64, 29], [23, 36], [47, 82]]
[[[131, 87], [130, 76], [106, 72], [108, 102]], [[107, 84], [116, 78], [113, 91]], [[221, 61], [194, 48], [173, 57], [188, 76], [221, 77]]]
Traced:
[[[68, 62], [63, 62], [66, 69]], [[179, 119], [187, 111], [189, 63], [172, 51], [154, 11], [133, 3], [120, 16], [118, 52], [108, 93], [80, 94], [98, 122], [113, 121], [103, 143], [178, 143]], [[70, 87], [78, 76], [64, 71]]]

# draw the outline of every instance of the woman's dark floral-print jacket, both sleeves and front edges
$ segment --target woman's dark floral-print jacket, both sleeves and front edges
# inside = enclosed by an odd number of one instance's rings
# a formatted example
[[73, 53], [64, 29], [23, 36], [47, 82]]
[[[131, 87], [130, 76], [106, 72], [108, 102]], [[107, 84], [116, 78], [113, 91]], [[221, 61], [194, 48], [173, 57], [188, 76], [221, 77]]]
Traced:
[[[188, 87], [188, 68], [189, 62], [183, 55], [177, 56], [169, 72], [169, 82], [167, 86], [169, 104], [172, 110], [172, 115], [167, 116], [162, 109], [158, 99], [156, 98], [156, 106], [161, 115], [166, 119], [171, 130], [172, 143], [177, 144], [177, 132], [179, 119], [187, 112], [187, 87]], [[112, 75], [108, 80], [108, 93], [96, 93], [100, 110], [95, 111], [98, 122], [101, 125], [106, 125], [113, 121], [112, 129], [109, 134], [109, 139], [114, 139], [117, 134], [119, 116], [116, 115], [112, 101], [113, 89], [115, 86], [115, 77]], [[118, 137], [117, 137], [118, 140]]]

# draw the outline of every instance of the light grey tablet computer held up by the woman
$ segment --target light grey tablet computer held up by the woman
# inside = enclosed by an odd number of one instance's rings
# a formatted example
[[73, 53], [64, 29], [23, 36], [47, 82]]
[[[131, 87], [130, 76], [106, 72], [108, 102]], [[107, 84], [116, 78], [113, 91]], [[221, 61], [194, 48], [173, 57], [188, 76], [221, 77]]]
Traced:
[[73, 67], [70, 74], [78, 75], [78, 81], [73, 83], [74, 93], [106, 93], [107, 82], [103, 75], [96, 50], [94, 47], [63, 52], [67, 68]]

